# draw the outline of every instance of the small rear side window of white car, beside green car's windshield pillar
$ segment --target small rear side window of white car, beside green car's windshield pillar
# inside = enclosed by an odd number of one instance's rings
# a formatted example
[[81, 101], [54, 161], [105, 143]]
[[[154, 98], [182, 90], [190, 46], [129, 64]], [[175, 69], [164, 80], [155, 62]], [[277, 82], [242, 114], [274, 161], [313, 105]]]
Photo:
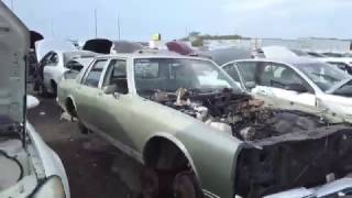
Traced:
[[[257, 84], [257, 69], [256, 69], [256, 63], [254, 62], [242, 62], [242, 63], [235, 63], [242, 78], [244, 80], [244, 85], [250, 85], [250, 84]], [[249, 87], [248, 87], [249, 88]]]

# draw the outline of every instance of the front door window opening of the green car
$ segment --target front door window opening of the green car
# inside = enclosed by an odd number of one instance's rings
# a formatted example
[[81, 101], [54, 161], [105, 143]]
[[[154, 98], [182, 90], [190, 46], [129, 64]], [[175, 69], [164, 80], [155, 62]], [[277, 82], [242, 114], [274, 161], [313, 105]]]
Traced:
[[129, 94], [125, 59], [112, 59], [110, 62], [103, 81], [105, 86], [117, 86], [117, 92]]

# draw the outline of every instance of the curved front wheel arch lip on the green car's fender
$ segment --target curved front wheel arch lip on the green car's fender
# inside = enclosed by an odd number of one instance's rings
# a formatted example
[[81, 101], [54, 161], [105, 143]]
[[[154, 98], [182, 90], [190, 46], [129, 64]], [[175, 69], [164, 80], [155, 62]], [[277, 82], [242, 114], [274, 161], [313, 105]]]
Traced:
[[186, 157], [186, 160], [188, 161], [190, 167], [193, 168], [193, 172], [196, 175], [196, 178], [199, 180], [199, 175], [198, 175], [198, 170], [197, 167], [189, 154], [189, 152], [187, 151], [186, 146], [174, 135], [169, 134], [169, 133], [157, 133], [154, 134], [153, 136], [151, 136], [150, 139], [147, 139], [146, 143], [143, 146], [142, 150], [142, 157], [143, 157], [143, 162], [145, 165], [147, 165], [150, 162], [150, 154], [152, 154], [152, 150], [153, 146], [155, 146], [155, 143], [157, 143], [158, 141], [165, 141], [169, 144], [173, 144], [174, 146], [176, 146]]

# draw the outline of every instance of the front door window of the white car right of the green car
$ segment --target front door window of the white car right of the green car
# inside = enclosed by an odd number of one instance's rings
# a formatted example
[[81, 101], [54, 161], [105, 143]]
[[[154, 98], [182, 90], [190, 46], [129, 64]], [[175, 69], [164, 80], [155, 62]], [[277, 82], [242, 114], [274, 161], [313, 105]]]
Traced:
[[262, 65], [263, 72], [260, 77], [258, 85], [275, 87], [275, 88], [285, 88], [290, 84], [299, 84], [305, 85], [304, 80], [299, 77], [299, 75], [293, 70], [292, 68], [274, 63], [263, 63]]

